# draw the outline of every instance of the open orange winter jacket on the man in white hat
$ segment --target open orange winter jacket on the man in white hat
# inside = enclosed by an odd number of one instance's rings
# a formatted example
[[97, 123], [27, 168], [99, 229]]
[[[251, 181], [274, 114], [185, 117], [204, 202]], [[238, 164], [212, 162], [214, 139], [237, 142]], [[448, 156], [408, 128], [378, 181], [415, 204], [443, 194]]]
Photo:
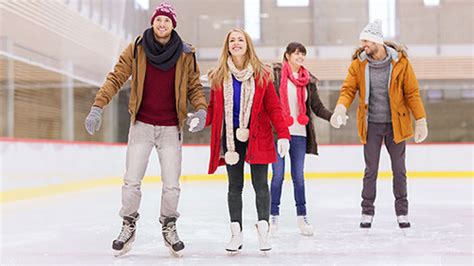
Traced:
[[[395, 143], [400, 143], [413, 137], [413, 125], [410, 112], [416, 120], [426, 117], [425, 108], [421, 101], [413, 68], [408, 61], [402, 46], [385, 42], [387, 53], [392, 55], [389, 78], [390, 110]], [[359, 48], [352, 57], [348, 74], [344, 80], [337, 104], [343, 104], [346, 109], [352, 104], [356, 92], [359, 93], [357, 108], [357, 128], [360, 141], [367, 141], [367, 119], [370, 96], [370, 76], [367, 55]]]

